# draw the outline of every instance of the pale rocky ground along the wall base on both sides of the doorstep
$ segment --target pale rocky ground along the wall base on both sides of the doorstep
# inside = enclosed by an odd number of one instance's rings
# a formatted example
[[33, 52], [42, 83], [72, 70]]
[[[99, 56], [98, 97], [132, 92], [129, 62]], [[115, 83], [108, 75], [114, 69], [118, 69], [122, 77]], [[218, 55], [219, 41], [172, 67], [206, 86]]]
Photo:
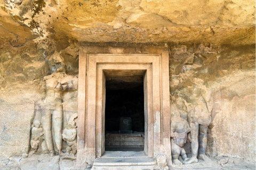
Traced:
[[[165, 163], [165, 157], [162, 156], [158, 159], [158, 165], [154, 167], [154, 169], [174, 169], [179, 170], [180, 167], [168, 167]], [[202, 170], [215, 170], [215, 169], [255, 169], [255, 164], [249, 163], [246, 160], [241, 160], [237, 158], [227, 158], [227, 157], [218, 157], [216, 159], [211, 160], [211, 162], [208, 162], [210, 166], [204, 166], [202, 163], [198, 164], [197, 167], [193, 166], [193, 164], [190, 164], [189, 166], [182, 166], [183, 169], [202, 169]], [[1, 169], [3, 170], [9, 170], [9, 169], [21, 169], [21, 170], [37, 170], [37, 169], [44, 169], [44, 170], [75, 170], [79, 169], [76, 166], [76, 161], [73, 159], [70, 159], [68, 157], [62, 157], [62, 156], [53, 156], [50, 157], [49, 155], [33, 155], [29, 158], [18, 158], [18, 157], [10, 157], [9, 160], [6, 160], [6, 162], [1, 162], [0, 164]], [[86, 167], [84, 168], [86, 169]]]

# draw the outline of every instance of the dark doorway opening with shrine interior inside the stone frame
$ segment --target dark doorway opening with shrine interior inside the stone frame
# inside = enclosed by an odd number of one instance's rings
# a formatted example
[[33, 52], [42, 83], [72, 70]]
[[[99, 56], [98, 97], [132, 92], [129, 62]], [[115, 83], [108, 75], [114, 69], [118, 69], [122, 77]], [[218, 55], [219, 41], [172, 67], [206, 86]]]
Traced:
[[106, 77], [105, 150], [143, 151], [143, 75]]

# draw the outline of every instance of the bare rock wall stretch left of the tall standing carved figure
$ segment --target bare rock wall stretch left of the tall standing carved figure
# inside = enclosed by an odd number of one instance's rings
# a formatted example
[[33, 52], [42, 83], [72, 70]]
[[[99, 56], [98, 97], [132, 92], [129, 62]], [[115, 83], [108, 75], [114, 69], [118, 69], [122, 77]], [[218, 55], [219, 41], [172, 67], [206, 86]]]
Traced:
[[1, 49], [0, 61], [0, 152], [10, 157], [20, 155], [29, 142], [30, 119], [45, 62], [42, 51], [33, 45], [27, 49]]

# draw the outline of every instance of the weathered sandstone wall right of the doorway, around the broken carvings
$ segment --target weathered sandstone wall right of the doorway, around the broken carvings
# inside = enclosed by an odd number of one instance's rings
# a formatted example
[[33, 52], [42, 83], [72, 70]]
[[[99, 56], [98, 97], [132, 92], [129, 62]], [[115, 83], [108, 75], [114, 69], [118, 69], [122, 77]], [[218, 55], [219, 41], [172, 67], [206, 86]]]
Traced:
[[212, 115], [207, 154], [255, 162], [255, 47], [172, 46], [171, 99], [185, 118], [194, 88]]

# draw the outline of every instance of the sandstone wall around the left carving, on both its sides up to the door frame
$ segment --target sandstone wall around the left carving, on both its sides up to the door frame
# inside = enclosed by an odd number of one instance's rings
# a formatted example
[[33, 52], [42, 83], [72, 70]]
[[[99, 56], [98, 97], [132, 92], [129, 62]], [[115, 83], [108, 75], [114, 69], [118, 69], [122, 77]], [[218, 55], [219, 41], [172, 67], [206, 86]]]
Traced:
[[[29, 144], [36, 102], [45, 98], [43, 78], [50, 74], [52, 43], [0, 49], [0, 158], [22, 155]], [[67, 74], [78, 74], [78, 48], [69, 46], [60, 55]], [[68, 102], [67, 102], [68, 100]], [[77, 92], [63, 94], [63, 112], [77, 112]]]

